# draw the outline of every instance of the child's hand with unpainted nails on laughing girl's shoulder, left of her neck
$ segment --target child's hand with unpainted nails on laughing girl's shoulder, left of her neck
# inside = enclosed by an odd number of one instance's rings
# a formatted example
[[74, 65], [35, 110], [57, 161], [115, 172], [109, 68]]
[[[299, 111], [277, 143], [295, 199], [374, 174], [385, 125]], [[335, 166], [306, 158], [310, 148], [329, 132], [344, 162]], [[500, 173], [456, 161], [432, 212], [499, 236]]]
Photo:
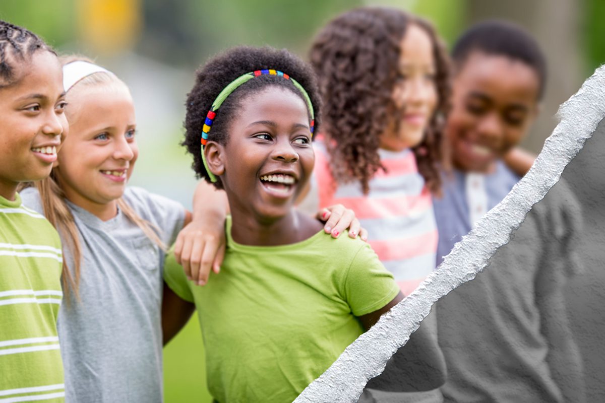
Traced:
[[177, 262], [189, 280], [197, 285], [208, 282], [210, 270], [218, 274], [225, 255], [224, 222], [214, 219], [192, 221], [178, 233], [174, 244]]

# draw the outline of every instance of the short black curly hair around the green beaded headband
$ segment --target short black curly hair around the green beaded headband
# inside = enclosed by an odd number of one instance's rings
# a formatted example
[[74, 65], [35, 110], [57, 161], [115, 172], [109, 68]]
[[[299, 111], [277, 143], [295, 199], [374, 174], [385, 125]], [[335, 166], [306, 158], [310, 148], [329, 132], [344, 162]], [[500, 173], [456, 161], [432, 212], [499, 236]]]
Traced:
[[[227, 50], [209, 60], [206, 65], [198, 69], [195, 84], [189, 92], [186, 103], [185, 115], [185, 140], [181, 145], [193, 155], [192, 168], [198, 178], [210, 178], [201, 160], [201, 129], [206, 119], [206, 113], [210, 110], [212, 102], [217, 95], [242, 74], [250, 73], [259, 69], [277, 69], [295, 79], [305, 89], [313, 106], [315, 114], [315, 133], [321, 126], [321, 98], [315, 79], [315, 74], [307, 63], [294, 56], [287, 50], [276, 50], [270, 47], [253, 48], [237, 47]], [[287, 91], [292, 91], [301, 97], [301, 92], [293, 85], [292, 81], [278, 76], [263, 75], [255, 77], [244, 83], [232, 92], [223, 102], [214, 118], [212, 130], [209, 132], [209, 141], [217, 141], [226, 144], [228, 140], [229, 122], [241, 103], [249, 95], [257, 94], [269, 86], [277, 86]], [[214, 185], [222, 188], [220, 180]]]

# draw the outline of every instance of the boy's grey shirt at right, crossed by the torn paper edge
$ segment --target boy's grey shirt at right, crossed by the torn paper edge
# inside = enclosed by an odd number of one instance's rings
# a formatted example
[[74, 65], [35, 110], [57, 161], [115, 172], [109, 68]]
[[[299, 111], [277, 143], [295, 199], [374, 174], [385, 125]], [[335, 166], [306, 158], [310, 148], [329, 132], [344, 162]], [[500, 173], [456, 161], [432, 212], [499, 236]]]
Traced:
[[[511, 190], [511, 178], [503, 166], [486, 176], [488, 208]], [[471, 228], [466, 179], [454, 172], [435, 201], [437, 263]], [[448, 367], [445, 402], [583, 401], [581, 358], [563, 292], [581, 272], [581, 222], [578, 202], [561, 179], [485, 271], [437, 301]]]

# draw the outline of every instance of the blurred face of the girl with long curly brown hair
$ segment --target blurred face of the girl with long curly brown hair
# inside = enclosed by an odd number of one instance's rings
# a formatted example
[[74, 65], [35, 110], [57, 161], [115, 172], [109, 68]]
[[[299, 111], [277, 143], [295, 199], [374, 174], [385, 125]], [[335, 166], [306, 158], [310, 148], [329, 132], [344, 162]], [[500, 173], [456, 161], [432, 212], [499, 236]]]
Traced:
[[437, 105], [433, 42], [416, 24], [411, 24], [401, 41], [398, 78], [391, 95], [395, 111], [381, 148], [401, 151], [417, 146]]

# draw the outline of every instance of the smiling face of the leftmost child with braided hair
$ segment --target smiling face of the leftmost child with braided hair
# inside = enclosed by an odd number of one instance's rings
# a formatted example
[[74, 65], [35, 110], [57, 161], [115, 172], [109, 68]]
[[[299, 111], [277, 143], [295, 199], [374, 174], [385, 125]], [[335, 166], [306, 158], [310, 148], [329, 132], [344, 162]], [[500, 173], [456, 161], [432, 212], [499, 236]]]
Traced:
[[62, 69], [54, 54], [39, 51], [16, 83], [0, 89], [0, 195], [13, 199], [19, 182], [50, 175], [67, 133]]

